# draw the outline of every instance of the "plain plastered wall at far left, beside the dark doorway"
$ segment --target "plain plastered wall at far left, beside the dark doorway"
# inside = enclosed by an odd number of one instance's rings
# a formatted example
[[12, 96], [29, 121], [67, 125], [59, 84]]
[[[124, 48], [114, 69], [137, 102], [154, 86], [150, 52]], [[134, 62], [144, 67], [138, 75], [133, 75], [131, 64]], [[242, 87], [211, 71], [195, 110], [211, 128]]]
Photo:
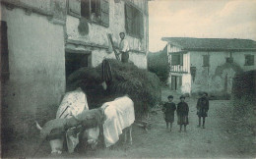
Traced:
[[10, 110], [34, 112], [59, 104], [65, 91], [63, 26], [45, 16], [1, 5], [7, 23], [10, 79], [4, 83], [4, 105]]

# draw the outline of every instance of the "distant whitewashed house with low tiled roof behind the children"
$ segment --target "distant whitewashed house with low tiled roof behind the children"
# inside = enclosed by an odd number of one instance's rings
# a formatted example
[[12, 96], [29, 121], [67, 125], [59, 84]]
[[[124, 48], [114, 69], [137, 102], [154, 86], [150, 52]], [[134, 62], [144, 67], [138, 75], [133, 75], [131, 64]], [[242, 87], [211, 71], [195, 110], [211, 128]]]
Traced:
[[256, 42], [250, 39], [162, 37], [167, 42], [171, 89], [182, 93], [231, 93], [232, 78], [255, 70]]

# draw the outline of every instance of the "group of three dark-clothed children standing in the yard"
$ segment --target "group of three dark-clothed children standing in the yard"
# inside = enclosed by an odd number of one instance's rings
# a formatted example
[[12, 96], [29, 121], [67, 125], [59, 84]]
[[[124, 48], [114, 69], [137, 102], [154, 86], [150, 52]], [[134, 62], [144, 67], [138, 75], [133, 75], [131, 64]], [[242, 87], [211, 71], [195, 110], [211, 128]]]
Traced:
[[[203, 93], [203, 96], [198, 99], [197, 102], [197, 115], [199, 118], [199, 125], [201, 127], [201, 118], [203, 118], [203, 129], [205, 129], [205, 118], [207, 117], [208, 110], [209, 110], [209, 100], [208, 94], [206, 92]], [[177, 112], [177, 124], [180, 126], [179, 132], [182, 130], [182, 126], [184, 126], [184, 132], [186, 132], [186, 126], [188, 125], [188, 112], [189, 107], [188, 104], [185, 102], [185, 96], [180, 96], [180, 102], [176, 104], [172, 102], [173, 96], [169, 95], [168, 101], [164, 103], [162, 107], [162, 111], [164, 112], [163, 118], [166, 122], [166, 129], [169, 128], [170, 132], [172, 129], [172, 123], [174, 122], [174, 112]]]

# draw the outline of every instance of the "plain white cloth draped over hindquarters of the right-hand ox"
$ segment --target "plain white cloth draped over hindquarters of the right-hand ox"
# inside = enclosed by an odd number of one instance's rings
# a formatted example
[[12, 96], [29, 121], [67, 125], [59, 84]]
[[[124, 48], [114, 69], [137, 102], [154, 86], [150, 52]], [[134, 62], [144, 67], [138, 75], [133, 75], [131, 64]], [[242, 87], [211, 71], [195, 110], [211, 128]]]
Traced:
[[103, 123], [104, 142], [105, 146], [109, 147], [119, 140], [123, 129], [134, 123], [134, 103], [128, 96], [123, 96], [104, 103], [102, 107], [106, 107], [106, 119]]

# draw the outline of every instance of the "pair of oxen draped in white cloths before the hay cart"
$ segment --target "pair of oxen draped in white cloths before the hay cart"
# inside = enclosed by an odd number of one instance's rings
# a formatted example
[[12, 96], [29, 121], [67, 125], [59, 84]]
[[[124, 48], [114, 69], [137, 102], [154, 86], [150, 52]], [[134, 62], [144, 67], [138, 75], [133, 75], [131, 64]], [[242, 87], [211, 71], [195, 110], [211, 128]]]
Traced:
[[[47, 122], [43, 128], [37, 124], [41, 138], [51, 136], [58, 132], [58, 137], [50, 137], [52, 153], [61, 153], [64, 137], [67, 140], [69, 152], [73, 152], [79, 142], [79, 135], [87, 139], [87, 144], [96, 147], [99, 128], [102, 128], [104, 144], [106, 147], [119, 140], [124, 131], [126, 141], [129, 132], [132, 144], [132, 124], [135, 121], [134, 103], [126, 95], [113, 101], [104, 103], [97, 109], [89, 110], [86, 94], [81, 88], [67, 93], [57, 111], [56, 119]], [[78, 129], [80, 128], [80, 129]]]

